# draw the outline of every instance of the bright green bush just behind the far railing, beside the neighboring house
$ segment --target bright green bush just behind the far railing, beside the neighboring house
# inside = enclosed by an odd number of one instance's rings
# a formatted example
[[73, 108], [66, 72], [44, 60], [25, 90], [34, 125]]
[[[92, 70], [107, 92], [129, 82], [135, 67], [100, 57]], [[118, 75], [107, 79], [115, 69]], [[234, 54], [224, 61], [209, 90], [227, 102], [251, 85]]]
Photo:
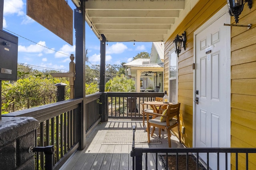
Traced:
[[124, 74], [109, 80], [105, 85], [106, 92], [133, 92], [135, 82], [127, 79]]

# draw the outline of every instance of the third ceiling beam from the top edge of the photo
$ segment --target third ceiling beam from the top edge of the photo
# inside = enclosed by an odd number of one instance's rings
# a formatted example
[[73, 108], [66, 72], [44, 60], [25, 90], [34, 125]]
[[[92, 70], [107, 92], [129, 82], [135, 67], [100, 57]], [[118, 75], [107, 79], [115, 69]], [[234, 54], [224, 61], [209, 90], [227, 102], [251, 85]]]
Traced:
[[174, 24], [174, 18], [92, 18], [97, 24]]

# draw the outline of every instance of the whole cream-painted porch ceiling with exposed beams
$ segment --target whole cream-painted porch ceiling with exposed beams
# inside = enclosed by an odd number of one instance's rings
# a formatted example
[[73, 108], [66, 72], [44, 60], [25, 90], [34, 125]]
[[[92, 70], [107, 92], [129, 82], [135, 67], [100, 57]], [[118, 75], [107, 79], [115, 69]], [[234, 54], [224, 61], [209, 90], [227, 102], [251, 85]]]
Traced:
[[187, 1], [88, 0], [86, 22], [97, 37], [104, 34], [109, 42], [166, 41]]

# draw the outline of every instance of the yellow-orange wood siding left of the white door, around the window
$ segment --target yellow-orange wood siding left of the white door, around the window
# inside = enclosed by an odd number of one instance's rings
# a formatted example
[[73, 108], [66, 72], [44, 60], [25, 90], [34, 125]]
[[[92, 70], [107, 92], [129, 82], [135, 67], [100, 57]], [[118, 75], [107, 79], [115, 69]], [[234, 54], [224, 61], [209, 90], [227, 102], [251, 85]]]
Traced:
[[[165, 43], [164, 56], [164, 90], [169, 88], [169, 58], [168, 53], [173, 48], [172, 41], [178, 34], [186, 31], [186, 51], [182, 52], [178, 58], [178, 102], [180, 106], [180, 126], [185, 127], [185, 134], [182, 134], [182, 142], [186, 147], [192, 147], [193, 140], [193, 78], [194, 70], [194, 31], [204, 22], [211, 18], [224, 5], [226, 0], [200, 0], [196, 6], [184, 18], [182, 23]], [[177, 131], [174, 131], [177, 134]]]

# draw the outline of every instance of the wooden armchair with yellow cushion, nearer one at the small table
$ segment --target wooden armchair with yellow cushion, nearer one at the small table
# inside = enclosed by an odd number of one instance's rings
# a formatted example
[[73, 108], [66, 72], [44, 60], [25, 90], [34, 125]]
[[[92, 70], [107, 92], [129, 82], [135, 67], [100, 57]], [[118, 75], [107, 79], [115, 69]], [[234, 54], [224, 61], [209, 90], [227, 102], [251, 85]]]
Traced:
[[[148, 131], [148, 143], [150, 143], [150, 126], [153, 127], [158, 127], [159, 128], [159, 137], [161, 138], [161, 129], [165, 129], [167, 131], [168, 135], [168, 144], [169, 147], [171, 147], [171, 133], [170, 130], [176, 126], [178, 126], [178, 134], [179, 134], [179, 141], [181, 143], [181, 138], [180, 138], [180, 103], [178, 104], [173, 104], [169, 105], [166, 113], [159, 114], [159, 113], [146, 113], [147, 115], [147, 131]], [[154, 119], [149, 119], [149, 115], [156, 115], [157, 117]], [[176, 116], [176, 118], [173, 118]], [[161, 122], [161, 117], [165, 118], [166, 121]], [[154, 133], [154, 128], [152, 129], [151, 136], [153, 136]]]

